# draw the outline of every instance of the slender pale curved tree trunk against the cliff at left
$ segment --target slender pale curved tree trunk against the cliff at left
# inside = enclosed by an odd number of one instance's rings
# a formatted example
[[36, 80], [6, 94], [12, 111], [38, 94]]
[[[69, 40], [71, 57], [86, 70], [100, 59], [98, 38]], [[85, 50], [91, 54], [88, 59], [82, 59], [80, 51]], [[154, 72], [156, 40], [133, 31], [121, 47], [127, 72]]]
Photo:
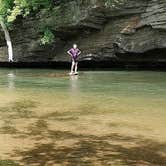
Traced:
[[13, 62], [13, 47], [12, 47], [12, 42], [11, 42], [9, 31], [8, 31], [5, 23], [2, 20], [0, 20], [0, 25], [5, 34], [5, 40], [6, 40], [7, 48], [8, 48], [8, 60], [9, 60], [9, 62]]

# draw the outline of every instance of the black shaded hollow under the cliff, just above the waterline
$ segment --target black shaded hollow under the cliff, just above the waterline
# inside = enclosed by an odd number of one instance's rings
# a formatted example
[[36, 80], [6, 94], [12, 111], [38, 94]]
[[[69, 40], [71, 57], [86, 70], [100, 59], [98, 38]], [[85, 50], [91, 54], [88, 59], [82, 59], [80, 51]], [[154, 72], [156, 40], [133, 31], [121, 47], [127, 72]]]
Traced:
[[[166, 49], [154, 49], [145, 53], [117, 53], [109, 60], [81, 60], [79, 68], [106, 70], [166, 70]], [[130, 57], [130, 58], [128, 58]], [[150, 59], [150, 60], [149, 60]], [[0, 67], [9, 68], [54, 68], [69, 69], [70, 62], [0, 62]]]

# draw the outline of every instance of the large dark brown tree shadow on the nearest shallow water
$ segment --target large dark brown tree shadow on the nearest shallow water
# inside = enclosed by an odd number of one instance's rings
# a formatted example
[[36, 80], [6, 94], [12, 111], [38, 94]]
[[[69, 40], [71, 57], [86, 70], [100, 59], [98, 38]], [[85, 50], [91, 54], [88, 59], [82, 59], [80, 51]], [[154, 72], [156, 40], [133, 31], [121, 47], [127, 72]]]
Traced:
[[[162, 152], [166, 143], [158, 143], [140, 137], [118, 134], [106, 136], [77, 135], [68, 131], [48, 131], [52, 141], [36, 143], [32, 149], [15, 150], [14, 157], [21, 156], [23, 165], [166, 165]], [[56, 144], [58, 140], [76, 140], [72, 145]], [[134, 143], [133, 146], [130, 146]]]

